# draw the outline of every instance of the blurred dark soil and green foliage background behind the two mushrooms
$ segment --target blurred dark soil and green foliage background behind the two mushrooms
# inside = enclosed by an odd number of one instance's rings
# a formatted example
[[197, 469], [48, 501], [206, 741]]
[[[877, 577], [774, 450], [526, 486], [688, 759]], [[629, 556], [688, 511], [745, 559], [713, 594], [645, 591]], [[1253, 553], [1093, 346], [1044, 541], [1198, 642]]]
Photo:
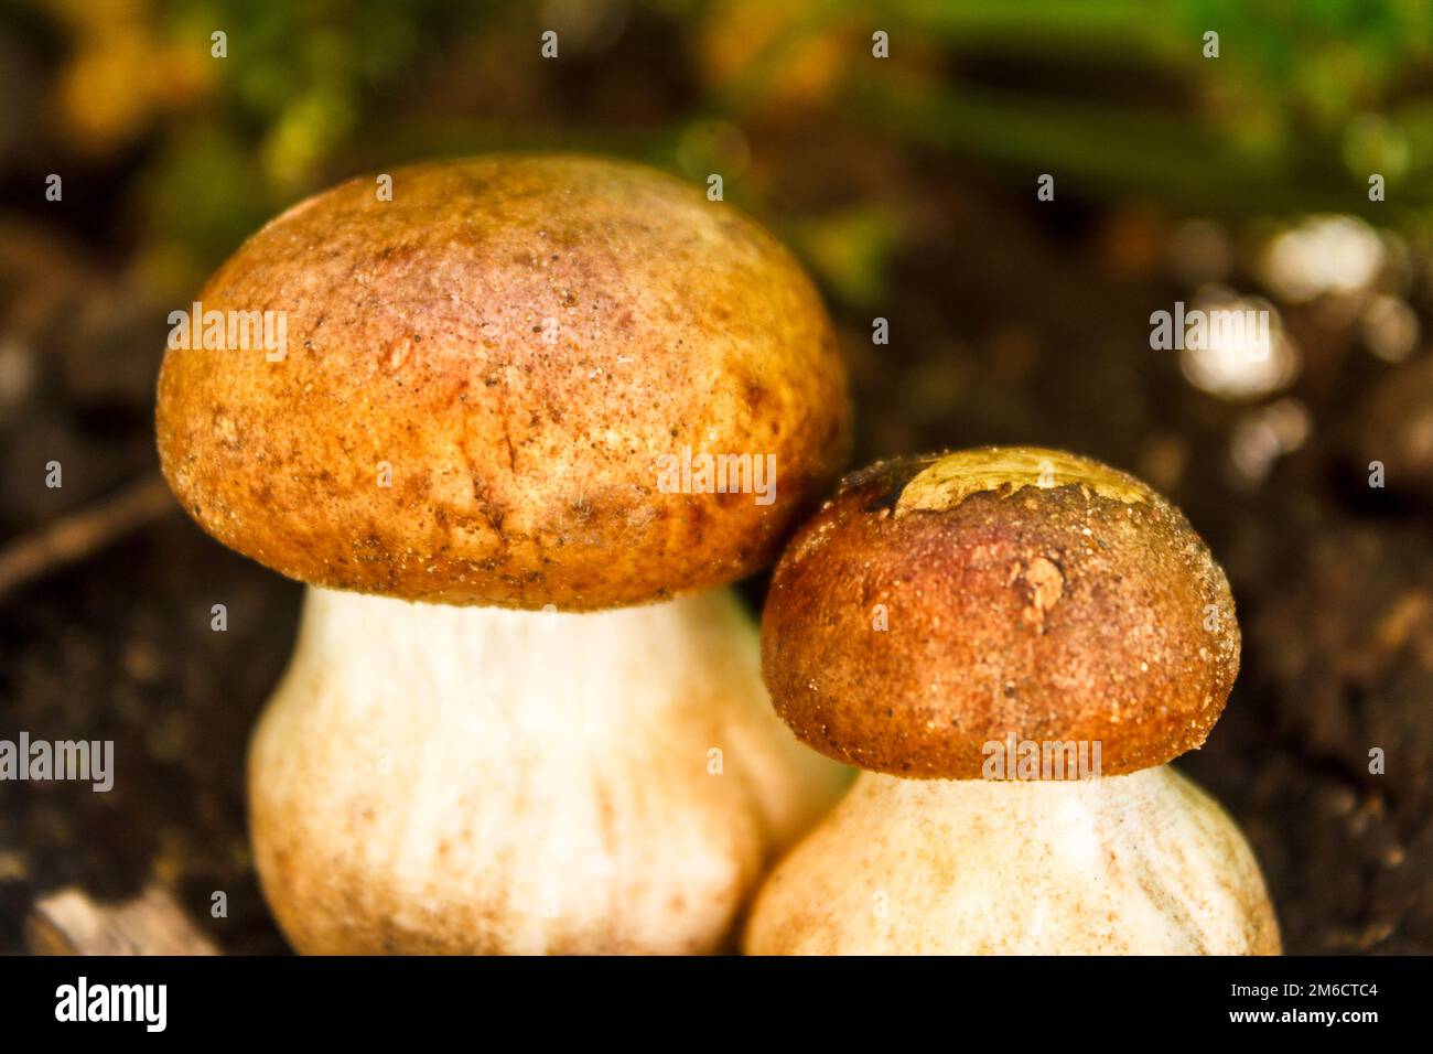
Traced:
[[[299, 587], [156, 482], [166, 315], [314, 191], [526, 148], [721, 174], [823, 288], [856, 463], [1039, 443], [1174, 498], [1244, 627], [1179, 766], [1287, 951], [1433, 952], [1420, 0], [3, 0], [0, 739], [115, 740], [118, 779], [0, 783], [0, 952], [284, 951], [242, 767]], [[1151, 350], [1176, 301], [1268, 310], [1270, 354]]]

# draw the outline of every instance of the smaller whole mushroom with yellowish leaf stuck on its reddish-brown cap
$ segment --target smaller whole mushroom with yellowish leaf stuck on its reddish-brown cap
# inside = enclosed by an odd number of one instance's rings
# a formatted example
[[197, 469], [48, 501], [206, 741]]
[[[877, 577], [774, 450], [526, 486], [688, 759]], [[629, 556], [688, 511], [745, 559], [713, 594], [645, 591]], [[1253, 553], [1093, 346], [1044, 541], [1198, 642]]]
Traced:
[[762, 670], [798, 737], [867, 771], [745, 949], [1277, 954], [1248, 845], [1166, 764], [1238, 652], [1224, 572], [1138, 479], [1029, 447], [853, 473], [777, 566]]

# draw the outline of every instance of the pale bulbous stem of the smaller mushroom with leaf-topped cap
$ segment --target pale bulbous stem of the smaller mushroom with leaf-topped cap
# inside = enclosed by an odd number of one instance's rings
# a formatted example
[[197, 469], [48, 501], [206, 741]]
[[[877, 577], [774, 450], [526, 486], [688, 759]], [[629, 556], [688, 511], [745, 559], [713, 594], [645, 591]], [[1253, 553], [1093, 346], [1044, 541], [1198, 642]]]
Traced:
[[1278, 954], [1254, 855], [1169, 766], [1070, 782], [861, 773], [762, 888], [747, 951]]

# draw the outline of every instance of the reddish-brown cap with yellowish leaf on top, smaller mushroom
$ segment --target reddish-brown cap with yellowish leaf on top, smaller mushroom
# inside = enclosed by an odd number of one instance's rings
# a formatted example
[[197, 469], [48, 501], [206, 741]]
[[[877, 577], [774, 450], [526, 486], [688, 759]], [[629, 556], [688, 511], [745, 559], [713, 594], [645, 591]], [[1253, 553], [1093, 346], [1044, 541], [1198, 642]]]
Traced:
[[1204, 743], [1240, 664], [1228, 582], [1184, 515], [1033, 447], [847, 476], [777, 565], [761, 638], [805, 743], [937, 779], [980, 777], [1010, 734], [1098, 741], [1106, 776], [1162, 764]]

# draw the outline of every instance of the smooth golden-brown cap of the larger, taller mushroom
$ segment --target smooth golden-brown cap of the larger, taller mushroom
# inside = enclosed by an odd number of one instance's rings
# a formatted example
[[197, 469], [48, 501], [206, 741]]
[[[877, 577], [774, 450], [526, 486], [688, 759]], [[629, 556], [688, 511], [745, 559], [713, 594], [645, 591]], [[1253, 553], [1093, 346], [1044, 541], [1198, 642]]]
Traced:
[[[579, 156], [377, 186], [291, 208], [201, 293], [206, 315], [284, 311], [285, 357], [165, 354], [160, 462], [209, 533], [315, 585], [514, 608], [641, 604], [775, 558], [850, 412], [817, 293], [761, 227]], [[774, 455], [774, 500], [663, 492], [684, 447], [698, 472]]]

